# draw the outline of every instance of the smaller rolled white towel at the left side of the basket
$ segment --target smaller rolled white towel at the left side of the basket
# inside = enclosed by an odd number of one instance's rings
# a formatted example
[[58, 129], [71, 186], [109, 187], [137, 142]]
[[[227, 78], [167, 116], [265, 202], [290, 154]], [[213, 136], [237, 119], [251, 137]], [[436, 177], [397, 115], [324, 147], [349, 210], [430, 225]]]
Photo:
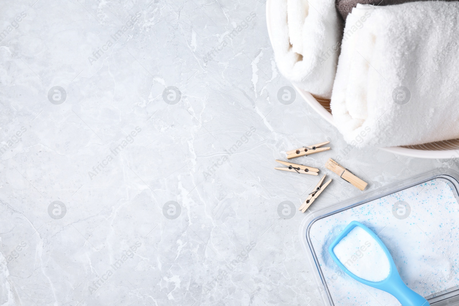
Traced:
[[268, 14], [280, 72], [299, 88], [329, 99], [342, 33], [335, 0], [271, 0]]

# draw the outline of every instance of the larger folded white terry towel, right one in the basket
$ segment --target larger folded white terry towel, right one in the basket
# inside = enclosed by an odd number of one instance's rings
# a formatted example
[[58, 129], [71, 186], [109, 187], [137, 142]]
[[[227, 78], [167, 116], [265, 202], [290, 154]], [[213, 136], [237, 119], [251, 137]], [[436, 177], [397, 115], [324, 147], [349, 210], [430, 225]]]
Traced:
[[330, 105], [348, 143], [386, 147], [459, 138], [458, 18], [456, 1], [353, 9]]

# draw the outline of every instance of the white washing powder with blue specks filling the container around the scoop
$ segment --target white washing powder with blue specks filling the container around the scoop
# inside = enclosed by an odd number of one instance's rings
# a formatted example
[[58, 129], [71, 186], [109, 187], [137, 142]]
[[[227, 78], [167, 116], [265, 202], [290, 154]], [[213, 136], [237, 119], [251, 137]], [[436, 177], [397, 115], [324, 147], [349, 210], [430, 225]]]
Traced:
[[458, 286], [459, 204], [453, 188], [437, 178], [313, 223], [310, 241], [334, 305], [400, 305], [351, 278], [331, 258], [328, 247], [353, 220], [378, 234], [410, 289], [428, 297]]

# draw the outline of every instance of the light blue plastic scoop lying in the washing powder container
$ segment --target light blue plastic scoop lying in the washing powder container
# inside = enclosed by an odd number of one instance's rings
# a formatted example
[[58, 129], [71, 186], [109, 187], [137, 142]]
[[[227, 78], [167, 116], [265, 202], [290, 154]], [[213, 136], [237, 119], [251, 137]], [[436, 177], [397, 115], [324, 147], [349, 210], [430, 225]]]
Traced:
[[[382, 250], [386, 254], [389, 265], [389, 273], [386, 276], [386, 278], [382, 279], [381, 281], [369, 281], [368, 279], [358, 277], [357, 275], [349, 271], [349, 269], [338, 259], [338, 257], [335, 254], [334, 249], [336, 245], [338, 245], [341, 242], [341, 240], [345, 238], [347, 234], [349, 234], [349, 232], [351, 232], [357, 226], [364, 229], [373, 239], [375, 239], [375, 241], [379, 244], [379, 246], [381, 246]], [[368, 244], [371, 245], [371, 243], [368, 243], [367, 241], [367, 245]], [[362, 245], [362, 250], [366, 250], [367, 248], [369, 247]], [[359, 246], [357, 246], [356, 250], [360, 250]], [[333, 258], [333, 260], [336, 262], [336, 264], [342, 270], [344, 270], [344, 272], [346, 272], [350, 277], [354, 278], [362, 284], [390, 293], [402, 304], [402, 306], [430, 306], [429, 302], [425, 300], [425, 298], [423, 298], [413, 290], [409, 289], [408, 286], [405, 283], [403, 283], [403, 280], [398, 274], [397, 267], [395, 266], [394, 260], [392, 259], [389, 250], [387, 250], [386, 245], [384, 245], [381, 239], [379, 239], [379, 237], [376, 236], [376, 234], [373, 233], [372, 230], [364, 226], [362, 223], [359, 223], [357, 221], [349, 223], [349, 225], [347, 225], [347, 227], [341, 232], [341, 234], [338, 235], [338, 237], [336, 237], [335, 241], [333, 241], [333, 243], [329, 246], [328, 252], [330, 253], [331, 258]], [[362, 254], [362, 257], [356, 256], [356, 260], [357, 258], [363, 258], [364, 253], [362, 251], [360, 251], [358, 254]], [[387, 263], [385, 259], [384, 261], [385, 263]], [[351, 259], [350, 262], [352, 263], [353, 260]], [[371, 262], [367, 262], [367, 264], [371, 264]], [[364, 265], [364, 267], [360, 265], [357, 268], [360, 269], [360, 271], [364, 271], [365, 273], [369, 272], [366, 270], [366, 265]], [[378, 270], [381, 269], [381, 265], [378, 265], [378, 263], [374, 263], [373, 267], [371, 268], [375, 269], [376, 271], [378, 271], [379, 274], [381, 274], [379, 272], [381, 270]]]

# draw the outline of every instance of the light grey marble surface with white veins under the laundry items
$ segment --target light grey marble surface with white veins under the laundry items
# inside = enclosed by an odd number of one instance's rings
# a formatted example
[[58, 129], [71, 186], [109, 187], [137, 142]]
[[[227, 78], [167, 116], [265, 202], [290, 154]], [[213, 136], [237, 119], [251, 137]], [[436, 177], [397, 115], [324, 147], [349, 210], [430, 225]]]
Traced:
[[319, 177], [274, 160], [331, 141], [301, 160], [334, 178], [311, 211], [361, 194], [329, 157], [368, 190], [448, 165], [343, 154], [299, 95], [280, 103], [264, 1], [0, 11], [0, 305], [322, 305], [307, 213], [278, 213]]

